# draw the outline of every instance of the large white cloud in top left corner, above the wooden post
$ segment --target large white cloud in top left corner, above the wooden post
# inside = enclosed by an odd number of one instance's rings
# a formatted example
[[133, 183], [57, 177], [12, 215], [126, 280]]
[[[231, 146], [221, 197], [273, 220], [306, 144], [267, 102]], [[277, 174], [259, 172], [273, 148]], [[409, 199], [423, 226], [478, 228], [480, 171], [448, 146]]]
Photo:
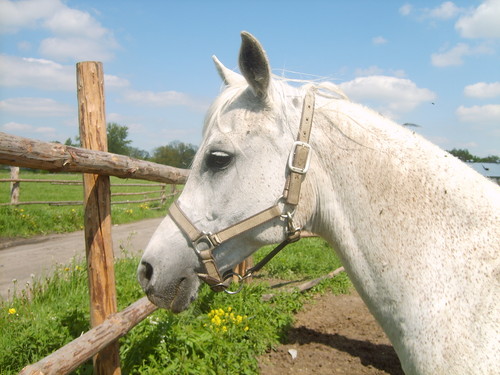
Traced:
[[113, 33], [94, 17], [59, 0], [0, 0], [0, 13], [4, 33], [26, 27], [48, 31], [39, 51], [52, 60], [108, 61], [119, 48]]

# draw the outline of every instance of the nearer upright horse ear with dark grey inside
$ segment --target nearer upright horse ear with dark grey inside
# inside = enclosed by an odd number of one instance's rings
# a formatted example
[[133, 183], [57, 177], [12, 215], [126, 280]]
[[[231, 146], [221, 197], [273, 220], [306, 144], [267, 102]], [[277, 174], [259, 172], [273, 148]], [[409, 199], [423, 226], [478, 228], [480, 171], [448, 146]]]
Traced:
[[271, 82], [271, 67], [259, 41], [246, 31], [241, 32], [239, 65], [254, 94], [266, 98]]

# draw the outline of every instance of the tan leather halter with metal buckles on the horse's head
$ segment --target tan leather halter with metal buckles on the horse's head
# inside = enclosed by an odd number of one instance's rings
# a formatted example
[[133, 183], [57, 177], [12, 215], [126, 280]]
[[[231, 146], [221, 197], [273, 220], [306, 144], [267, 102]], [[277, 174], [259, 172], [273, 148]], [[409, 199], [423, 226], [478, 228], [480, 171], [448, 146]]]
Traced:
[[[292, 145], [292, 150], [288, 158], [287, 166], [289, 174], [286, 179], [283, 195], [278, 198], [273, 206], [217, 233], [204, 232], [196, 228], [191, 220], [189, 220], [188, 216], [181, 210], [178, 201], [175, 201], [170, 206], [170, 217], [190, 239], [192, 248], [204, 264], [206, 272], [199, 273], [198, 277], [209, 284], [212, 290], [216, 292], [226, 291], [230, 294], [237, 293], [239, 290], [236, 292], [227, 290], [233, 275], [237, 276], [240, 280], [250, 277], [253, 272], [260, 270], [286, 245], [300, 239], [300, 232], [302, 228], [294, 226], [293, 215], [295, 213], [295, 208], [299, 203], [302, 180], [309, 169], [311, 161], [312, 153], [309, 138], [311, 134], [313, 115], [314, 93], [309, 91], [304, 97], [299, 134], [297, 135], [297, 140]], [[280, 203], [284, 204], [283, 208], [280, 207]], [[292, 209], [286, 210], [285, 208], [287, 207]], [[226, 242], [243, 232], [258, 227], [259, 225], [277, 217], [281, 217], [287, 222], [287, 238], [256, 266], [247, 269], [244, 275], [238, 275], [232, 271], [228, 271], [221, 276], [219, 268], [215, 263], [213, 251], [223, 242]]]

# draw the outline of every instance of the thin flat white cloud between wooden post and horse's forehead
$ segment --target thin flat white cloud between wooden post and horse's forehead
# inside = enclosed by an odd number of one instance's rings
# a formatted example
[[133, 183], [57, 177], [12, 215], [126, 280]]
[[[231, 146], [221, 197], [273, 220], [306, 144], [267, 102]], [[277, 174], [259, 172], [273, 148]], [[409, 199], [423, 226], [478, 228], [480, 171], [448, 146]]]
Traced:
[[192, 98], [178, 91], [135, 91], [129, 90], [123, 96], [129, 103], [152, 107], [184, 106], [198, 111], [206, 111], [208, 103]]

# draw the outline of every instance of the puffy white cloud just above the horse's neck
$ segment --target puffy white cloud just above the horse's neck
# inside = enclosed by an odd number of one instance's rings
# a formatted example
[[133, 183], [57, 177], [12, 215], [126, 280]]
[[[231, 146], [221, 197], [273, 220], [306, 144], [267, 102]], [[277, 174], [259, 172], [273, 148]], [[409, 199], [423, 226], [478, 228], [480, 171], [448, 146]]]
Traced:
[[389, 76], [358, 77], [340, 84], [340, 87], [351, 99], [368, 103], [393, 118], [436, 98], [435, 93], [417, 87], [409, 79]]

